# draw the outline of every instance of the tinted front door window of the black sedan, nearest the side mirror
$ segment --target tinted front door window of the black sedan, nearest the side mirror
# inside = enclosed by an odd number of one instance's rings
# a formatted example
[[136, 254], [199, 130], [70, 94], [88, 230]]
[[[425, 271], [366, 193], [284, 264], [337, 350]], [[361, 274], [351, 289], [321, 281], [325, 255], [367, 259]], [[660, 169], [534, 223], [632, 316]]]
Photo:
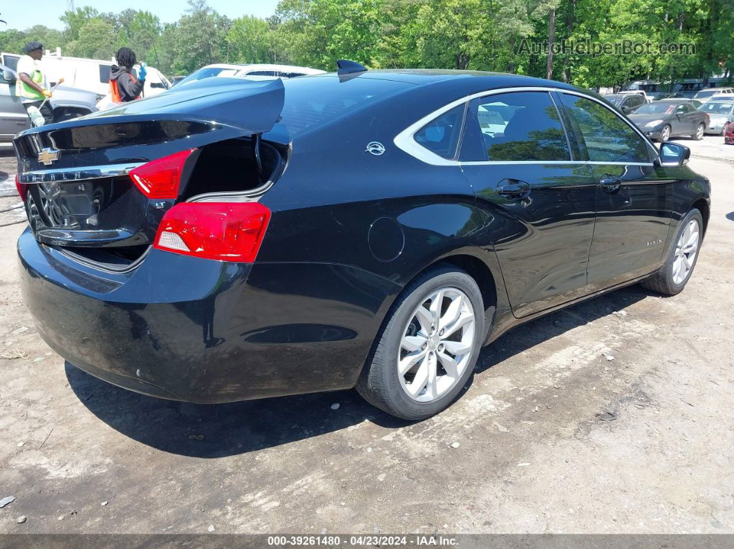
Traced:
[[584, 97], [567, 94], [562, 97], [581, 133], [579, 139], [589, 153], [589, 161], [650, 162], [644, 139], [617, 114]]

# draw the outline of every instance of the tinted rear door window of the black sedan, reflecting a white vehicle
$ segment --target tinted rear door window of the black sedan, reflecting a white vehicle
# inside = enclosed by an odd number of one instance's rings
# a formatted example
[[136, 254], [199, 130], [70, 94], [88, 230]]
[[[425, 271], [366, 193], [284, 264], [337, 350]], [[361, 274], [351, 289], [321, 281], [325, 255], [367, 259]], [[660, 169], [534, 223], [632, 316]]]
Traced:
[[[546, 92], [487, 95], [473, 100], [470, 112], [473, 122], [479, 124], [481, 131], [468, 135], [476, 136], [473, 139], [482, 139], [482, 157], [473, 158], [472, 155], [465, 158], [462, 155], [462, 160], [570, 160], [568, 142], [558, 111]], [[468, 144], [469, 147], [472, 144]]]

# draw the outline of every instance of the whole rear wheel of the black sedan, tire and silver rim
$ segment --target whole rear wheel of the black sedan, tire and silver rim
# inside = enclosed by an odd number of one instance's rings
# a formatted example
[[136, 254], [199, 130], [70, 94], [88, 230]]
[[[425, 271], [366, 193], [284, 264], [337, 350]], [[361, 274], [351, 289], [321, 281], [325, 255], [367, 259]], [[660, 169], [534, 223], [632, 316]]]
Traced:
[[476, 281], [454, 265], [432, 268], [403, 290], [385, 322], [357, 391], [410, 421], [448, 407], [482, 345], [484, 303]]

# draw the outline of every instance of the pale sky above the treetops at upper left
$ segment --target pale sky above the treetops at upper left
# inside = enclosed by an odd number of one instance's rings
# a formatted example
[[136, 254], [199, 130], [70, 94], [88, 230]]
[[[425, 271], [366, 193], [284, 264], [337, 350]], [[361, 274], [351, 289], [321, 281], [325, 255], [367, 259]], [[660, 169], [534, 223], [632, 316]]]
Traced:
[[[209, 6], [222, 15], [234, 19], [242, 15], [266, 18], [275, 12], [277, 0], [208, 0]], [[51, 29], [63, 29], [59, 17], [68, 9], [67, 0], [31, 0], [0, 2], [0, 30], [28, 29], [34, 25], [46, 25]], [[126, 8], [148, 10], [158, 15], [162, 23], [178, 21], [189, 7], [186, 0], [74, 0], [74, 7], [91, 6], [100, 12], [120, 12]]]

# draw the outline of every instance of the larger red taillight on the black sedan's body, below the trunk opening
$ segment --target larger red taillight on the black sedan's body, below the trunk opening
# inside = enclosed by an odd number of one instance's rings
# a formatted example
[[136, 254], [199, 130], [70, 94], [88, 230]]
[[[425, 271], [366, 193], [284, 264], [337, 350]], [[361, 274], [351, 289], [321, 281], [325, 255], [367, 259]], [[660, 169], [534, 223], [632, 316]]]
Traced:
[[154, 248], [205, 259], [252, 262], [270, 220], [259, 202], [181, 202], [166, 212]]

